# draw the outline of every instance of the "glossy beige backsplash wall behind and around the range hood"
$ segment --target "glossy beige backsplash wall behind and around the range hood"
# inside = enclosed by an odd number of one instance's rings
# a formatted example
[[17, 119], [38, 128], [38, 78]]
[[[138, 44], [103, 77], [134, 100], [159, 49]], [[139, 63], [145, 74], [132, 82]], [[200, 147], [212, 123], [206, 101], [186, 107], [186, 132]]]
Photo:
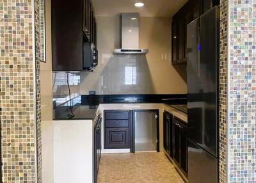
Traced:
[[[94, 72], [70, 75], [72, 93], [97, 94], [170, 94], [187, 93], [186, 82], [171, 63], [171, 20], [141, 17], [140, 47], [146, 56], [113, 55], [121, 46], [120, 15], [97, 17], [99, 65]], [[186, 72], [186, 69], [184, 69]], [[53, 95], [67, 95], [67, 74], [53, 74]], [[54, 82], [55, 81], [55, 82]]]

